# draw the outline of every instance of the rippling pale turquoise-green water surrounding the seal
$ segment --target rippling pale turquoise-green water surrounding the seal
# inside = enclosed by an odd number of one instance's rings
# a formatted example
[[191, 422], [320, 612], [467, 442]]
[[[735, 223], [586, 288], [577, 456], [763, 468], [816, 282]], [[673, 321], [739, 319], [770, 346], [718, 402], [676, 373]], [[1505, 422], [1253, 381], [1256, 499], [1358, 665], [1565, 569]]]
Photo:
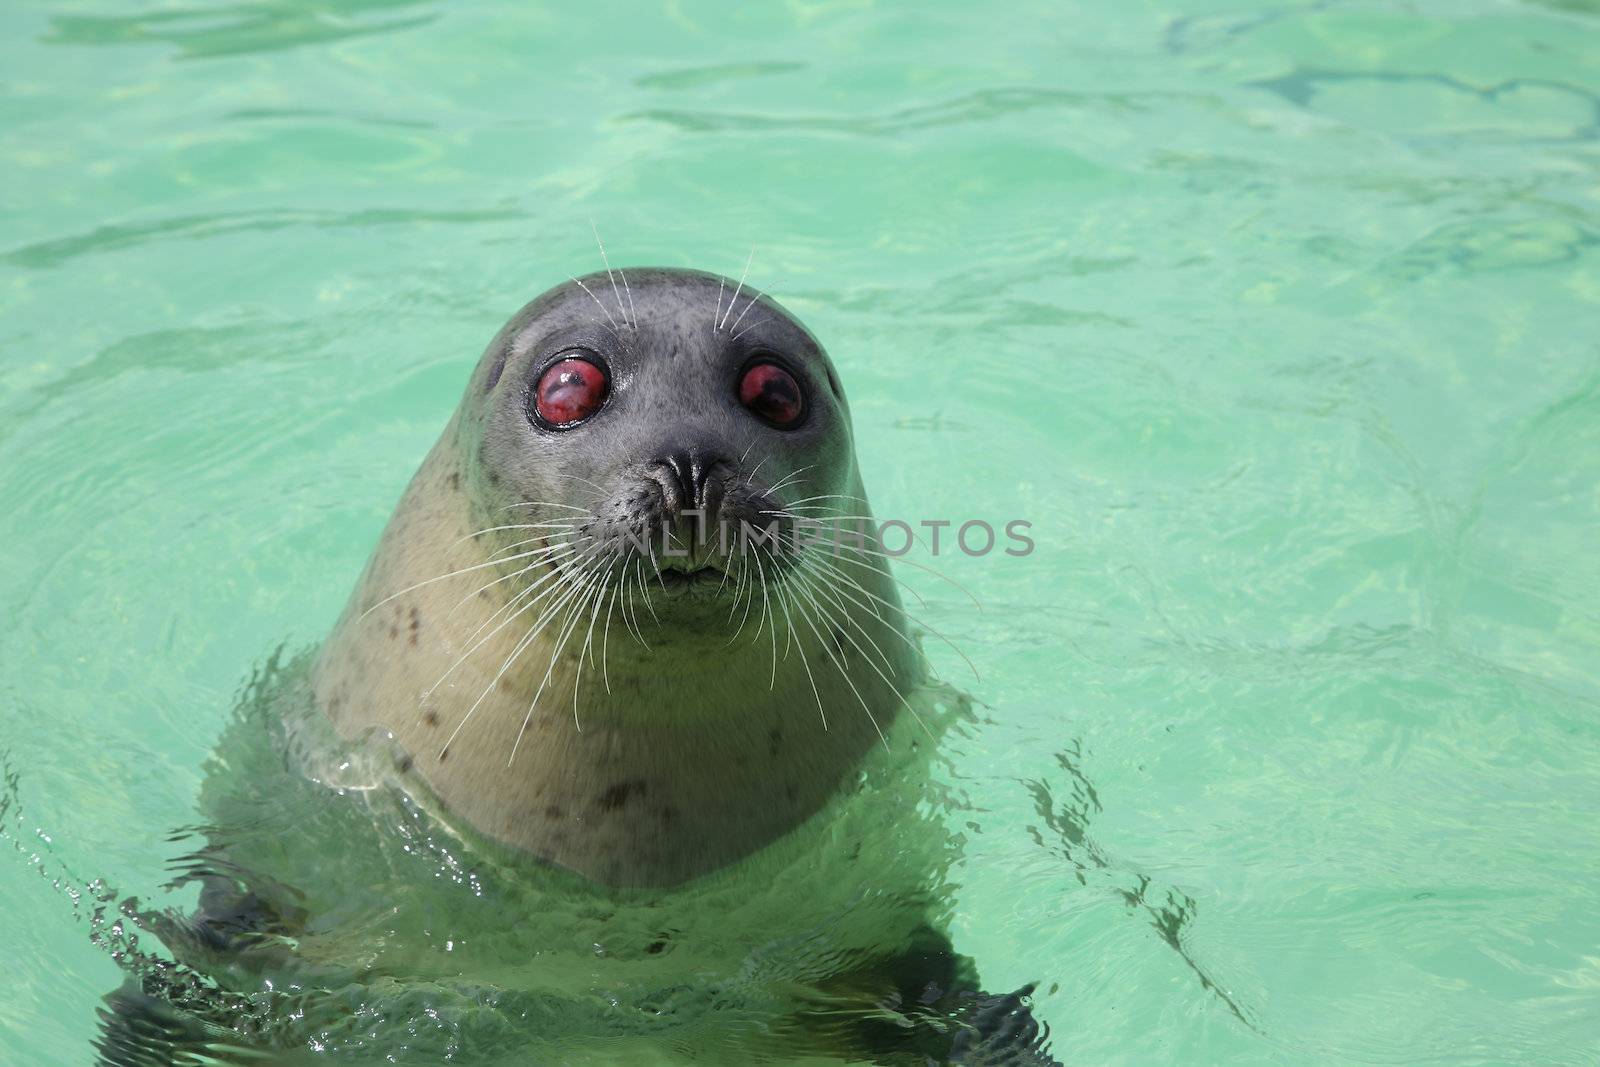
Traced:
[[[499, 323], [614, 261], [829, 347], [974, 659], [952, 931], [1064, 1062], [1600, 1059], [1600, 5], [0, 14], [0, 747], [160, 902]], [[955, 673], [954, 653], [930, 646]], [[48, 835], [48, 843], [32, 838]], [[0, 1061], [118, 981], [0, 862]]]

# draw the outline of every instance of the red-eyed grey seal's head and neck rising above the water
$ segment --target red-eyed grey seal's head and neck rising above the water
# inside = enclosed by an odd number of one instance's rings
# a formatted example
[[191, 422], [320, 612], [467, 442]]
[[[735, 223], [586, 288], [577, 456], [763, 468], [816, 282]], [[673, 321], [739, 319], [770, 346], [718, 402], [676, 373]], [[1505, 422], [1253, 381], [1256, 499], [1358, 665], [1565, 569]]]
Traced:
[[474, 830], [670, 885], [813, 814], [922, 661], [821, 344], [710, 274], [523, 307], [314, 670]]

